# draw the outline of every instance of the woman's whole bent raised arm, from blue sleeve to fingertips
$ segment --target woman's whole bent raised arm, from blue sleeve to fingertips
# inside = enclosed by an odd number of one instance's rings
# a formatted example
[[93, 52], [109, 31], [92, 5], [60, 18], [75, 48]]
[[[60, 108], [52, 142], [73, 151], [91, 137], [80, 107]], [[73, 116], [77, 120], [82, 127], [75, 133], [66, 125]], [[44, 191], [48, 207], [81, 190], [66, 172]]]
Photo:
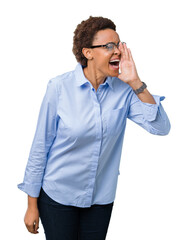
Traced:
[[121, 73], [118, 78], [131, 87], [128, 118], [152, 134], [168, 134], [170, 122], [161, 105], [164, 97], [151, 95], [147, 89], [138, 95], [133, 92], [141, 87], [142, 82], [138, 76], [130, 49], [125, 43], [120, 43], [119, 50], [121, 52]]

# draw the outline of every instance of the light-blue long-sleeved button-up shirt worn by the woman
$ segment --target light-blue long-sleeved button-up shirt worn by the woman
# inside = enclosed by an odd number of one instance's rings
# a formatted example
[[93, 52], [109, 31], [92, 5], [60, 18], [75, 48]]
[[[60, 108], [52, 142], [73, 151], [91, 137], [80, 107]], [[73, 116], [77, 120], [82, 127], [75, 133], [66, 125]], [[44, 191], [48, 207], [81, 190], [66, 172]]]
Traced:
[[127, 118], [148, 132], [166, 135], [169, 119], [161, 105], [143, 103], [117, 77], [97, 91], [81, 64], [48, 82], [23, 183], [38, 197], [41, 187], [56, 202], [77, 207], [114, 201]]

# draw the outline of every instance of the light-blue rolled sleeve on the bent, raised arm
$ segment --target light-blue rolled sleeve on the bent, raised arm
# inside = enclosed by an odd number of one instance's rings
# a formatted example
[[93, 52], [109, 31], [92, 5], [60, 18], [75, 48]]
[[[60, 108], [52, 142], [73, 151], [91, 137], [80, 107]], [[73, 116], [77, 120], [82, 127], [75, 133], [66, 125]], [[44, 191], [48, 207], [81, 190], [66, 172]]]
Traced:
[[164, 96], [152, 95], [156, 104], [144, 103], [135, 94], [130, 101], [128, 118], [155, 135], [167, 135], [170, 131], [170, 121], [161, 101]]

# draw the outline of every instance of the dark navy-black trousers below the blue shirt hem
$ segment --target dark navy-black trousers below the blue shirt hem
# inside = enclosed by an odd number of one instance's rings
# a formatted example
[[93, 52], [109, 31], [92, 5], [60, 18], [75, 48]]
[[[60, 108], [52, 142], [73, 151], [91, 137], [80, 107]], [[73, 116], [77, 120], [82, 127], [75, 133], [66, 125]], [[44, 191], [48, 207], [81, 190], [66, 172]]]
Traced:
[[113, 204], [95, 204], [89, 208], [65, 206], [41, 189], [38, 208], [46, 239], [105, 240]]

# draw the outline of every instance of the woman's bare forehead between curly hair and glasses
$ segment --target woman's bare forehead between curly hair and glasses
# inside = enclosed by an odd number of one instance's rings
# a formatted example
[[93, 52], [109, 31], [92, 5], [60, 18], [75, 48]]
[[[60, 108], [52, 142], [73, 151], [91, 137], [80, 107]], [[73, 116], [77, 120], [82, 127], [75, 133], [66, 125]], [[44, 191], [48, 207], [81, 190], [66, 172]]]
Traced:
[[120, 41], [119, 35], [112, 29], [105, 29], [98, 31], [93, 39], [95, 44], [104, 44], [107, 42], [118, 43]]

